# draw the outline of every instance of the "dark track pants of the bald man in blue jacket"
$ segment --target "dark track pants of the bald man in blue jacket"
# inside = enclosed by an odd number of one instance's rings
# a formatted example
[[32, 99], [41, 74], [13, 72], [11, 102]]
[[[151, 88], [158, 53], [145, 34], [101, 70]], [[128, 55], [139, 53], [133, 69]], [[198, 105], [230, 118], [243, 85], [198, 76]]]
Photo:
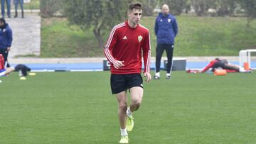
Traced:
[[165, 43], [158, 43], [156, 46], [156, 72], [160, 71], [161, 65], [161, 56], [163, 55], [164, 50], [166, 50], [167, 54], [167, 73], [171, 72], [172, 67], [172, 60], [173, 60], [173, 53], [174, 53], [174, 44], [165, 44]]

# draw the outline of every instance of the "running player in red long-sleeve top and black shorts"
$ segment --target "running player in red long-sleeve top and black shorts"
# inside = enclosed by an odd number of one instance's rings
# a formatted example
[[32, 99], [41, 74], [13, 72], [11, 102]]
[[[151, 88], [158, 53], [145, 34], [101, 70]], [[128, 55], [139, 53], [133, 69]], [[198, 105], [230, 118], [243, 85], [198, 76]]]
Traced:
[[[134, 121], [132, 113], [139, 109], [143, 97], [142, 56], [146, 82], [150, 74], [150, 35], [149, 30], [139, 24], [142, 17], [142, 4], [129, 4], [128, 21], [112, 28], [104, 48], [110, 62], [110, 83], [112, 94], [118, 102], [118, 116], [121, 131], [119, 143], [129, 143], [127, 131], [132, 131]], [[127, 107], [127, 89], [131, 95], [131, 104]]]

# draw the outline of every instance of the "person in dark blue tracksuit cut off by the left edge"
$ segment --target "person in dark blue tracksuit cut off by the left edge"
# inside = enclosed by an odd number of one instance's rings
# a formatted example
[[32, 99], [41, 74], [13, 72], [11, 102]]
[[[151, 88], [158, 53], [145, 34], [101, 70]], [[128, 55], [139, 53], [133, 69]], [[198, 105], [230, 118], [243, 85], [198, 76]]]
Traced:
[[4, 62], [7, 67], [10, 67], [7, 57], [11, 50], [12, 31], [4, 18], [0, 18], [0, 54], [4, 56]]

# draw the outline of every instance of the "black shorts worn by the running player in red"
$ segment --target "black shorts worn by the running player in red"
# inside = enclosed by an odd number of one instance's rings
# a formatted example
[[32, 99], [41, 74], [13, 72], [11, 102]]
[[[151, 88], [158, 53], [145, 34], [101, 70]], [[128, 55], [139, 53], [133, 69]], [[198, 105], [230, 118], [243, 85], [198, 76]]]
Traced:
[[112, 94], [124, 92], [132, 87], [142, 87], [143, 79], [141, 74], [111, 74], [110, 85]]

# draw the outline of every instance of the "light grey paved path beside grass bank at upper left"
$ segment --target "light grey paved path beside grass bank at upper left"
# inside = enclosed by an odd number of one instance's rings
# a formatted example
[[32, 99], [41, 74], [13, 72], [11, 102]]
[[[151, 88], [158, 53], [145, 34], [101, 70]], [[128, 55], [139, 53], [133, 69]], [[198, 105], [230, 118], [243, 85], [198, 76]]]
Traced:
[[13, 31], [9, 58], [17, 55], [40, 55], [41, 16], [37, 13], [25, 13], [25, 18], [6, 18], [6, 23], [9, 23]]

